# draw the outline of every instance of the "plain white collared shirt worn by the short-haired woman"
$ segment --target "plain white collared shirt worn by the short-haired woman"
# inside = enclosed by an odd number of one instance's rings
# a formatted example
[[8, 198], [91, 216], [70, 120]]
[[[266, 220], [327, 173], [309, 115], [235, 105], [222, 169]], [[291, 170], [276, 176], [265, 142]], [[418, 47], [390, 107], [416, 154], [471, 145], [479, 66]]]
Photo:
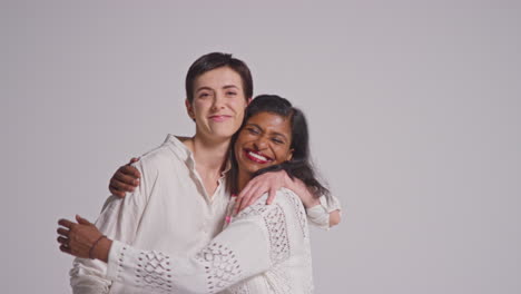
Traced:
[[[191, 151], [175, 136], [135, 164], [141, 173], [136, 190], [110, 196], [96, 226], [111, 239], [142, 249], [195, 254], [222, 229], [229, 202], [223, 171], [214, 195], [207, 195]], [[70, 271], [75, 293], [132, 293], [106, 278], [100, 261], [76, 258]]]

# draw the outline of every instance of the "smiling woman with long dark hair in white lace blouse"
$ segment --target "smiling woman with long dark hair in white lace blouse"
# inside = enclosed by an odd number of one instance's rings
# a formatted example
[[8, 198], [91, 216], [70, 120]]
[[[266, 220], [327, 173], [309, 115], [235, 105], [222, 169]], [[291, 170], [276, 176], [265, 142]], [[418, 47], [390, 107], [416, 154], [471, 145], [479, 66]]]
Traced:
[[[304, 115], [278, 96], [258, 96], [232, 144], [229, 189], [239, 193], [255, 176], [284, 169], [315, 195], [328, 195], [309, 163]], [[108, 263], [107, 278], [149, 292], [312, 293], [309, 234], [303, 204], [282, 188], [272, 205], [256, 202], [194, 256], [141, 251], [104, 236], [87, 219], [60, 219], [62, 252]], [[233, 207], [233, 203], [230, 203]]]

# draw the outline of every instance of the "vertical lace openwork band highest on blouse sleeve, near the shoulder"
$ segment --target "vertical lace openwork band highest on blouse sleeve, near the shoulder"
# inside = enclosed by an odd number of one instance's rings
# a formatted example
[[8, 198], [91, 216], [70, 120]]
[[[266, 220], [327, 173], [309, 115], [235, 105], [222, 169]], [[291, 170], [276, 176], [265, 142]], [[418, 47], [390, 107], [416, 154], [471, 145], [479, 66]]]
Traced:
[[286, 216], [281, 205], [274, 205], [275, 208], [264, 214], [264, 222], [269, 234], [272, 245], [272, 263], [276, 264], [289, 257], [289, 241], [287, 236]]

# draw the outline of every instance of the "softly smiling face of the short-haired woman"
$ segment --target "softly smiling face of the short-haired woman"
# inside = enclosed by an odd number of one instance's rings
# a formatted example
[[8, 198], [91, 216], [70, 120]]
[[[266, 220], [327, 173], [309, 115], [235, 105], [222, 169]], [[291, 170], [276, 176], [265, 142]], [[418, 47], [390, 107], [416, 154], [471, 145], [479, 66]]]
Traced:
[[186, 100], [188, 115], [196, 121], [196, 135], [229, 139], [240, 127], [247, 99], [240, 76], [229, 67], [200, 75], [194, 82], [194, 101]]

